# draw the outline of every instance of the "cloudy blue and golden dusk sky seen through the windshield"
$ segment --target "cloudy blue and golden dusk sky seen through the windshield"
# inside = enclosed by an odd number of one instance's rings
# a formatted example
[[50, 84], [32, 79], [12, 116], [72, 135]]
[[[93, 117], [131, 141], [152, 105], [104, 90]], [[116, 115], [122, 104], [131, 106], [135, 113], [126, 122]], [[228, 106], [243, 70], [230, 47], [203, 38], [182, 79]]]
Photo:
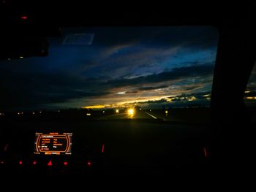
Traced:
[[0, 61], [0, 110], [208, 106], [210, 26], [62, 28], [49, 54]]

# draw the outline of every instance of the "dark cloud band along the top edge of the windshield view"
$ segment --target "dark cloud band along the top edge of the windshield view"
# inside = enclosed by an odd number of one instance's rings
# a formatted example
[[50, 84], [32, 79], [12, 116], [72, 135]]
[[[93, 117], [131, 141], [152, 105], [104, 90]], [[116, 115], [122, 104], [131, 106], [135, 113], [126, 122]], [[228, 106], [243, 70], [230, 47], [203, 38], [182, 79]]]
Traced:
[[[80, 28], [80, 31], [88, 33], [95, 32], [94, 44], [111, 46], [113, 43], [121, 42], [145, 42], [145, 45], [177, 46], [189, 43], [195, 47], [211, 47], [217, 44], [217, 29], [214, 27], [139, 27], [129, 28]], [[148, 31], [151, 31], [148, 33]], [[198, 38], [200, 37], [200, 38]], [[102, 44], [104, 42], [104, 44]]]

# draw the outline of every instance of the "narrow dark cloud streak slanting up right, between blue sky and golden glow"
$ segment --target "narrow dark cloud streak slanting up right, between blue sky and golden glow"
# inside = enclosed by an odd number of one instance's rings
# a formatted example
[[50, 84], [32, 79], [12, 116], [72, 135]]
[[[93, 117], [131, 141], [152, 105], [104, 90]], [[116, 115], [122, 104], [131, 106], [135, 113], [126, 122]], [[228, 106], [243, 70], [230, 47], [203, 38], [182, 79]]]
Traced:
[[162, 72], [159, 74], [151, 74], [143, 77], [135, 77], [132, 79], [116, 79], [106, 82], [108, 86], [122, 87], [127, 85], [139, 85], [146, 83], [165, 82], [168, 80], [178, 80], [186, 77], [204, 77], [211, 75], [213, 72], [212, 64], [200, 64], [195, 66], [184, 66], [174, 68], [170, 72]]

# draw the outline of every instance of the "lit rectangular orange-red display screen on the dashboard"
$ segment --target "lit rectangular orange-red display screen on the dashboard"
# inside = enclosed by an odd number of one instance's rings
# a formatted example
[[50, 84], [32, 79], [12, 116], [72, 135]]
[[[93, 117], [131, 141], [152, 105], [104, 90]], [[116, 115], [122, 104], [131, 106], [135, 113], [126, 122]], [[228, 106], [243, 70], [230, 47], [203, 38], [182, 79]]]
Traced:
[[34, 154], [71, 155], [72, 133], [36, 133]]

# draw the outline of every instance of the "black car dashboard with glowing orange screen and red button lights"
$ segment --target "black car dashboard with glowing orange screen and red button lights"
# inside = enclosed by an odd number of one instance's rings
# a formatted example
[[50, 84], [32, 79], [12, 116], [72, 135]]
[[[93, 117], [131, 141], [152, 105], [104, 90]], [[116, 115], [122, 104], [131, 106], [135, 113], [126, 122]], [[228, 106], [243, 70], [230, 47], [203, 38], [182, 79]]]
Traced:
[[[1, 129], [1, 173], [166, 174], [206, 166], [205, 127], [138, 120], [16, 121]], [[196, 166], [195, 166], [196, 165]]]

